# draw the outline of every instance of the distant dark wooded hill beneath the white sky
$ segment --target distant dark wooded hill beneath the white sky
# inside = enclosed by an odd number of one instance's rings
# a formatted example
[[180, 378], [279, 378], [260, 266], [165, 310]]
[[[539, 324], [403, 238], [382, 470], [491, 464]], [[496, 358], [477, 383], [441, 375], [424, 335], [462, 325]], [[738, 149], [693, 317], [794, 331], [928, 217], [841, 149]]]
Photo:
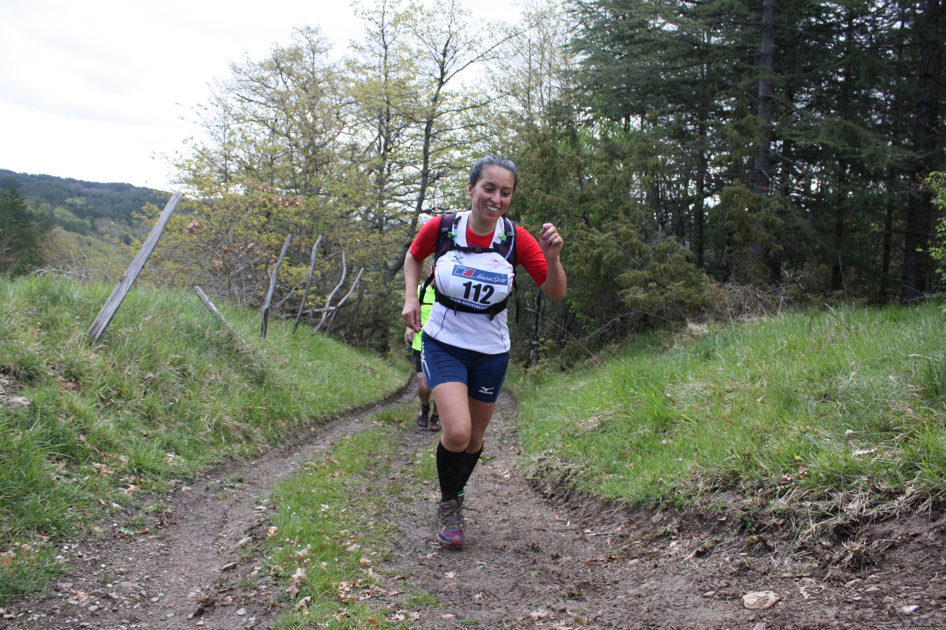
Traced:
[[159, 207], [169, 193], [131, 184], [85, 182], [53, 175], [31, 175], [0, 168], [0, 187], [12, 183], [31, 206], [43, 210], [66, 232], [113, 236], [126, 244], [147, 231], [133, 213], [146, 203]]

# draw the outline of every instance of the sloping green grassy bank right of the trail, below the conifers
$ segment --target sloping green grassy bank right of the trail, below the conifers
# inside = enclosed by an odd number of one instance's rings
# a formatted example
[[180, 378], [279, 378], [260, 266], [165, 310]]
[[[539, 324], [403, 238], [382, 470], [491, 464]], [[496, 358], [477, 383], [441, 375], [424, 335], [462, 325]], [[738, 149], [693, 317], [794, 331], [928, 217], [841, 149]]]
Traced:
[[943, 493], [941, 305], [689, 330], [568, 373], [512, 376], [536, 471], [630, 505], [738, 489], [808, 534]]

